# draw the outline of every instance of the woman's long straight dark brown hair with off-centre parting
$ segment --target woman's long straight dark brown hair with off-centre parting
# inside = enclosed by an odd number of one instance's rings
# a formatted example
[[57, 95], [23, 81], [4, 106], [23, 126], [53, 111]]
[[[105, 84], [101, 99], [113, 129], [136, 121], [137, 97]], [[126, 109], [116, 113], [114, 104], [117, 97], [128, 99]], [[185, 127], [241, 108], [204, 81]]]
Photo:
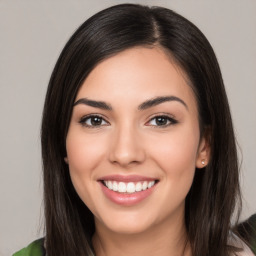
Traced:
[[134, 46], [161, 47], [186, 73], [207, 132], [210, 162], [196, 170], [185, 222], [193, 256], [227, 256], [231, 216], [240, 202], [232, 120], [213, 49], [201, 31], [161, 7], [123, 4], [85, 21], [64, 47], [50, 78], [42, 120], [46, 250], [48, 256], [94, 255], [94, 219], [71, 183], [66, 135], [83, 81], [102, 60]]

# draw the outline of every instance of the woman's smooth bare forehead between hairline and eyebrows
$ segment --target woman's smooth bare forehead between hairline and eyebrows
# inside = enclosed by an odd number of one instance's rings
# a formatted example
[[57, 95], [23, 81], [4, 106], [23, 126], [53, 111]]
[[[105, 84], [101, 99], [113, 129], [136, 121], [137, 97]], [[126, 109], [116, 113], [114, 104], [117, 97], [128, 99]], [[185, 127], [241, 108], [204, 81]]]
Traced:
[[77, 99], [139, 104], [168, 95], [195, 105], [186, 75], [170, 55], [157, 47], [134, 47], [100, 62], [82, 84]]

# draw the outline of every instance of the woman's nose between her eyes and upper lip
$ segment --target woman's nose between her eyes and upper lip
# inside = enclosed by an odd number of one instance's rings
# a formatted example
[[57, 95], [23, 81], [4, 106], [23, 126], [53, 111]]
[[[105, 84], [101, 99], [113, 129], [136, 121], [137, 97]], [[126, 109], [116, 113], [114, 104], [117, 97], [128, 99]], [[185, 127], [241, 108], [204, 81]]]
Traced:
[[125, 168], [142, 163], [146, 153], [140, 137], [138, 131], [132, 127], [115, 131], [111, 138], [109, 161]]

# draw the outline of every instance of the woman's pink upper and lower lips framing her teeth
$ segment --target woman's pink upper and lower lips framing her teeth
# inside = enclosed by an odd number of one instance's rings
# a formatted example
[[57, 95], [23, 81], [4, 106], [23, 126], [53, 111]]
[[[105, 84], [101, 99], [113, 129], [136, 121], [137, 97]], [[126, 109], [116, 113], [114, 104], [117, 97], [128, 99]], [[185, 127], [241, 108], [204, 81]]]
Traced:
[[137, 176], [137, 175], [130, 175], [130, 176], [111, 175], [111, 176], [102, 177], [99, 180], [99, 184], [101, 186], [101, 189], [104, 195], [112, 202], [119, 205], [123, 205], [123, 206], [132, 206], [140, 203], [141, 201], [143, 201], [144, 199], [146, 199], [151, 195], [151, 193], [154, 191], [157, 185], [155, 184], [153, 187], [148, 188], [146, 190], [129, 194], [129, 193], [119, 193], [119, 192], [115, 192], [113, 190], [108, 189], [106, 186], [103, 185], [102, 180], [136, 182], [136, 181], [154, 181], [156, 179]]

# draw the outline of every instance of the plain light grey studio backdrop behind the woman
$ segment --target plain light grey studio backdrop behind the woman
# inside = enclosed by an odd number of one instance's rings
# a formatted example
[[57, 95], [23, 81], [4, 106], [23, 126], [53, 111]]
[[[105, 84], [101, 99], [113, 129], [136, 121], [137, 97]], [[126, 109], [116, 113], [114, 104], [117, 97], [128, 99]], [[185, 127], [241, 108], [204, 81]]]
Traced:
[[[51, 71], [74, 30], [115, 0], [0, 0], [0, 255], [43, 236], [40, 123]], [[129, 2], [129, 1], [128, 1]], [[130, 1], [168, 7], [206, 35], [240, 145], [242, 219], [256, 212], [256, 1]]]

